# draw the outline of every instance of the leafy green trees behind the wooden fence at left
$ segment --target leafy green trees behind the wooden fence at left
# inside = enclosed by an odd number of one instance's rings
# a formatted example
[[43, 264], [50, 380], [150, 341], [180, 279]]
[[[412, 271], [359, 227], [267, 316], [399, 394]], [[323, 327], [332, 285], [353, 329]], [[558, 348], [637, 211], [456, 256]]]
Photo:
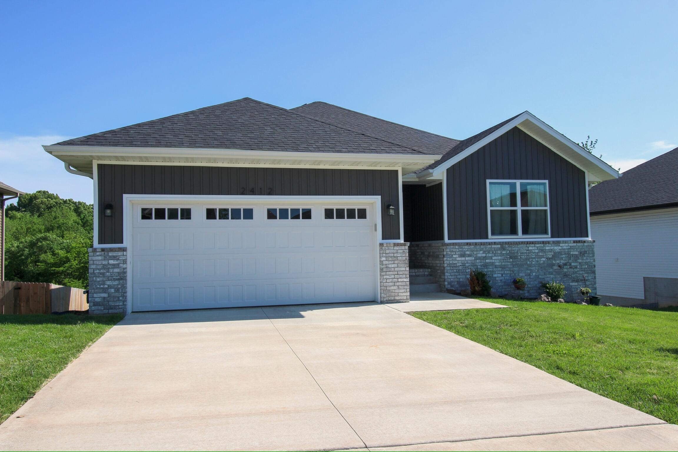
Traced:
[[87, 288], [91, 204], [39, 190], [6, 211], [5, 279]]

